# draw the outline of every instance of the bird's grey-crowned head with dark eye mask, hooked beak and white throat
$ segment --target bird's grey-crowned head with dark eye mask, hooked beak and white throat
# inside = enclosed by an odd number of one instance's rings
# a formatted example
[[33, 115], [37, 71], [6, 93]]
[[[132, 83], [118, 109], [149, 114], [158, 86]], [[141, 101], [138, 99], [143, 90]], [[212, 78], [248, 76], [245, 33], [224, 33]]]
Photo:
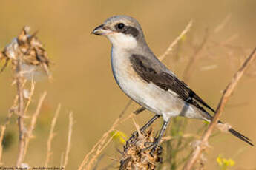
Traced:
[[125, 49], [135, 48], [140, 41], [144, 41], [140, 24], [130, 16], [112, 16], [92, 33], [105, 35], [114, 47]]

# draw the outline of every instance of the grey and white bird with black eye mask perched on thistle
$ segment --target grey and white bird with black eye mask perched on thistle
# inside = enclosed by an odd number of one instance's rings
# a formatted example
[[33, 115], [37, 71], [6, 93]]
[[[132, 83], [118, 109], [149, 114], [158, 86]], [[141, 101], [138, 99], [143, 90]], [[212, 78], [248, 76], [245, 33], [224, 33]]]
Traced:
[[[154, 55], [135, 18], [112, 16], [93, 29], [92, 34], [103, 35], [111, 41], [111, 67], [120, 89], [142, 106], [139, 112], [148, 109], [155, 114], [140, 130], [145, 131], [154, 120], [163, 117], [160, 133], [150, 147], [152, 151], [160, 145], [171, 118], [183, 116], [208, 122], [213, 120], [206, 109], [213, 114], [215, 110]], [[232, 128], [228, 131], [253, 146], [251, 140], [240, 132]]]

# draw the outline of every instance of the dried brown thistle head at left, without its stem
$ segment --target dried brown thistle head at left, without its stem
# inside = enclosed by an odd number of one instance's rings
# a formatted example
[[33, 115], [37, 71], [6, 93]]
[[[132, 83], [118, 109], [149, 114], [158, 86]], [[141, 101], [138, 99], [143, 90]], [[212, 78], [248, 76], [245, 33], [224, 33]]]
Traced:
[[50, 61], [47, 52], [41, 41], [36, 37], [36, 33], [30, 35], [29, 31], [29, 27], [24, 27], [18, 37], [14, 38], [1, 52], [0, 61], [5, 60], [4, 67], [1, 68], [1, 71], [4, 70], [9, 61], [12, 61], [12, 65], [15, 67], [16, 62], [19, 60], [22, 66], [22, 72], [25, 75], [35, 73], [41, 67], [50, 76], [48, 69]]

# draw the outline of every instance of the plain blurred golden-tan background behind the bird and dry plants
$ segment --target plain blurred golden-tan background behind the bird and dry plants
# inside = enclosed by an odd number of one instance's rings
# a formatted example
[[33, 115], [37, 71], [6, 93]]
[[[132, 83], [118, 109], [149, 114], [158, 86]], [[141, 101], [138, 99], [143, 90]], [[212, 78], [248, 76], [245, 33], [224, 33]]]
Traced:
[[[16, 37], [24, 25], [32, 32], [39, 30], [38, 37], [45, 44], [53, 72], [53, 81], [41, 78], [36, 83], [33, 103], [28, 112], [36, 108], [39, 95], [47, 91], [47, 98], [39, 115], [30, 141], [25, 163], [40, 166], [45, 161], [47, 136], [50, 121], [58, 103], [62, 110], [56, 123], [56, 137], [53, 139], [53, 158], [50, 165], [58, 166], [65, 152], [68, 137], [68, 112], [73, 112], [72, 146], [67, 169], [74, 169], [82, 163], [85, 154], [110, 128], [114, 120], [128, 103], [128, 97], [114, 81], [110, 52], [111, 44], [107, 38], [91, 35], [94, 27], [106, 18], [125, 14], [137, 18], [145, 33], [151, 50], [162, 55], [168, 45], [181, 33], [188, 22], [194, 21], [191, 31], [177, 44], [174, 51], [165, 58], [165, 64], [180, 78], [183, 77], [194, 49], [207, 34], [208, 44], [200, 52], [193, 72], [186, 81], [213, 108], [221, 97], [232, 75], [256, 46], [256, 1], [255, 0], [216, 0], [216, 1], [99, 1], [99, 0], [1, 0], [0, 47]], [[207, 31], [206, 31], [207, 30]], [[226, 106], [223, 121], [256, 142], [256, 64], [238, 84], [231, 100]], [[13, 77], [10, 67], [0, 75], [0, 123], [4, 123], [8, 109], [12, 106], [16, 87], [11, 86]], [[133, 103], [126, 114], [137, 109]], [[136, 117], [140, 126], [153, 115], [143, 112]], [[162, 120], [154, 123], [156, 131]], [[203, 124], [191, 120], [187, 132], [197, 132]], [[119, 126], [122, 132], [130, 135], [135, 126], [127, 121]], [[13, 157], [18, 153], [18, 134], [16, 119], [7, 126], [7, 144], [4, 145], [5, 165], [15, 164]], [[206, 169], [217, 169], [219, 154], [232, 158], [232, 169], [255, 169], [256, 149], [237, 140], [232, 135], [221, 134], [210, 140], [213, 148], [207, 149]], [[106, 166], [118, 157], [111, 143], [104, 151]]]

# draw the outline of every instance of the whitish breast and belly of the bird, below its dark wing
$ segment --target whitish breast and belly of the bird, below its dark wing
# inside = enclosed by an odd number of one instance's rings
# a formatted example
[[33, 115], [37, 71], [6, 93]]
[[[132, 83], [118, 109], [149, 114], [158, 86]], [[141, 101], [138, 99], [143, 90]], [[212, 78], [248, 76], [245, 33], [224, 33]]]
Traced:
[[117, 84], [134, 101], [157, 114], [162, 114], [163, 110], [169, 108], [166, 101], [163, 102], [163, 90], [154, 84], [142, 81], [131, 67], [130, 55], [127, 52], [113, 47], [111, 65]]

